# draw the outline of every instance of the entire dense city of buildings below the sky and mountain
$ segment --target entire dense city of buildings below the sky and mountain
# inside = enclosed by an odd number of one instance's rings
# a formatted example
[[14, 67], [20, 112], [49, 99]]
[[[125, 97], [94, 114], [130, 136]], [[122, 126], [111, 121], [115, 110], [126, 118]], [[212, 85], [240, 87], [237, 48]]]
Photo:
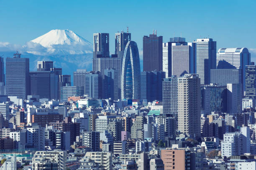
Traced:
[[56, 61], [0, 57], [0, 170], [256, 170], [247, 48], [154, 32], [141, 69], [128, 28], [115, 52], [109, 38], [93, 34], [92, 68], [86, 55], [73, 81]]

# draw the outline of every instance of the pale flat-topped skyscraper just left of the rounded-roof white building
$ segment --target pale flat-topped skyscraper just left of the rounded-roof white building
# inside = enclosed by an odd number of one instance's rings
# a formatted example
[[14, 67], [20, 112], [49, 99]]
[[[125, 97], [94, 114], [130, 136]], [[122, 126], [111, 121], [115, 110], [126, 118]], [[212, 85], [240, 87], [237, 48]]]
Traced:
[[212, 38], [197, 39], [197, 67], [201, 84], [210, 84], [210, 69], [216, 68], [216, 41]]

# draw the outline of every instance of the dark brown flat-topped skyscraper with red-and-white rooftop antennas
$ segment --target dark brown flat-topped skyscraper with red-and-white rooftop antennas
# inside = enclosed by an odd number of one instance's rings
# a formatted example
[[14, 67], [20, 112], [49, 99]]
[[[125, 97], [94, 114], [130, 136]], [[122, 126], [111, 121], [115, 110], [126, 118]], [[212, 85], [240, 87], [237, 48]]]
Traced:
[[150, 34], [143, 37], [143, 71], [163, 70], [163, 37]]

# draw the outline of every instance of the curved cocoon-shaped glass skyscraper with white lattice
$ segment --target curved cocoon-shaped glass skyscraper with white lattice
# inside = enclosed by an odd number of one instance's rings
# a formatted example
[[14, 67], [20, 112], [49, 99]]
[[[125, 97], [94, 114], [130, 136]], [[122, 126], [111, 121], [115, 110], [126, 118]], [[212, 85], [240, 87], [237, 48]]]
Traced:
[[126, 44], [121, 75], [121, 98], [140, 99], [141, 66], [136, 42]]

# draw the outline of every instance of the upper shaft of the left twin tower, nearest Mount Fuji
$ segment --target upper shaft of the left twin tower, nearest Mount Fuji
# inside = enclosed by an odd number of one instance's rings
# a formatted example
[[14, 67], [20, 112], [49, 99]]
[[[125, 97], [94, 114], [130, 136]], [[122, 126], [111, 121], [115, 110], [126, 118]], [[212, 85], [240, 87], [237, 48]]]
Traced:
[[93, 34], [93, 57], [94, 58], [109, 57], [109, 34], [108, 33]]

